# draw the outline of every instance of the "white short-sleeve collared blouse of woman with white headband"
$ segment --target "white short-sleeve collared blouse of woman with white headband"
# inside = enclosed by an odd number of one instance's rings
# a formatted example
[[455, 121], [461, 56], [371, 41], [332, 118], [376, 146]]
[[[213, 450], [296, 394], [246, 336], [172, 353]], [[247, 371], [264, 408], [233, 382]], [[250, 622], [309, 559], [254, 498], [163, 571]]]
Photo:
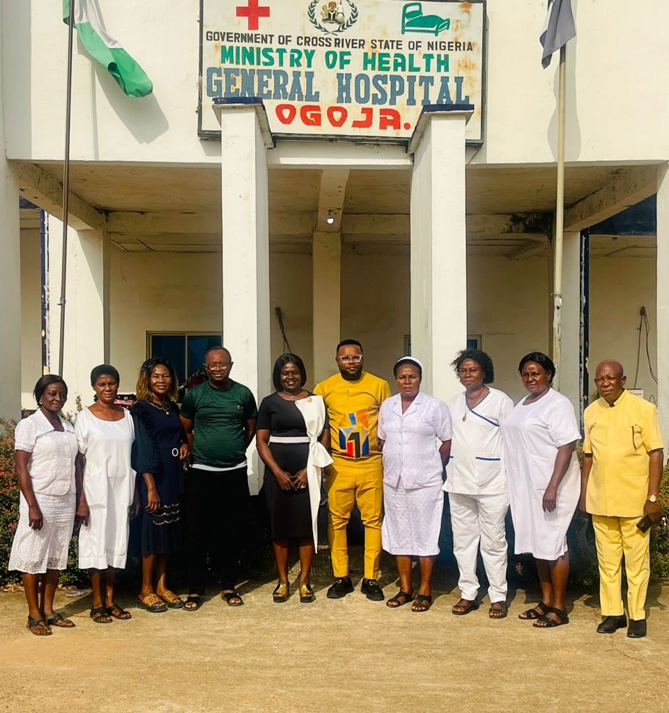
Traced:
[[402, 397], [391, 396], [379, 411], [383, 480], [407, 490], [441, 485], [439, 446], [451, 440], [451, 414], [444, 401], [419, 391], [402, 414]]

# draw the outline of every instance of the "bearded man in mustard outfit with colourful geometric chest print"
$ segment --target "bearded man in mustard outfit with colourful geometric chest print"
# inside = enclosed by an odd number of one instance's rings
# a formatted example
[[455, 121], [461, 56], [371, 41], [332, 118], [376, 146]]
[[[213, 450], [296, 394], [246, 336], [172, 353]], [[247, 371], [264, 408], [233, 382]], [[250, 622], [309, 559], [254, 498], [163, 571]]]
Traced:
[[377, 437], [379, 407], [390, 396], [387, 381], [362, 371], [362, 346], [355, 339], [337, 344], [339, 374], [317, 384], [330, 417], [332, 458], [327, 469], [330, 518], [327, 535], [334, 570], [330, 599], [353, 591], [349, 575], [346, 527], [357, 503], [364, 524], [364, 578], [360, 591], [367, 599], [384, 598], [377, 582], [381, 556], [383, 466]]

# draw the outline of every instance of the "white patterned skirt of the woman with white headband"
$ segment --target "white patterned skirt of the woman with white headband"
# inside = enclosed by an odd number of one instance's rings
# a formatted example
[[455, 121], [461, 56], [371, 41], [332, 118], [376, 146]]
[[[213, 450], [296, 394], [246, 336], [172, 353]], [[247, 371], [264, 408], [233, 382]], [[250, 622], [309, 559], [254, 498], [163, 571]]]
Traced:
[[391, 555], [434, 557], [439, 554], [441, 515], [444, 513], [444, 491], [441, 483], [428, 488], [405, 490], [384, 483], [385, 515], [382, 543]]

